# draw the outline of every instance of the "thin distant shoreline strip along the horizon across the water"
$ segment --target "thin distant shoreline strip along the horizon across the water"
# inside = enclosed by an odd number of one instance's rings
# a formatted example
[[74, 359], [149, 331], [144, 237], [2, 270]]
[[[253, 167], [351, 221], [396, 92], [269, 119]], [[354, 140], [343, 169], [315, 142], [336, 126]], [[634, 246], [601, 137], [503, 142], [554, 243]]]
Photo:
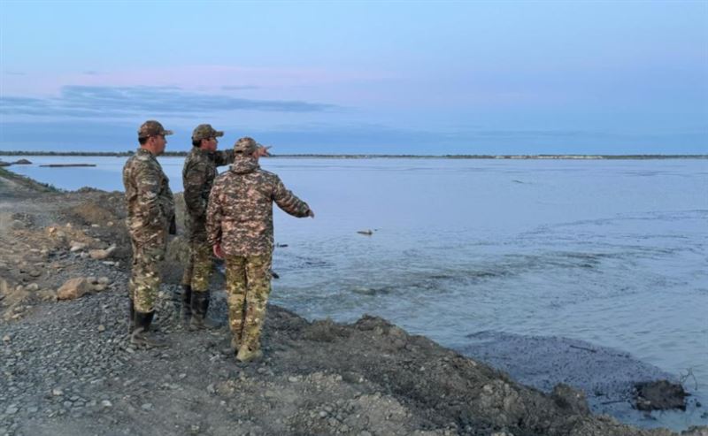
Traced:
[[[0, 151], [2, 156], [57, 156], [57, 157], [128, 157], [134, 151]], [[165, 157], [186, 157], [187, 151], [166, 151]], [[708, 155], [378, 155], [378, 154], [288, 154], [272, 157], [289, 158], [327, 158], [327, 159], [378, 159], [378, 158], [415, 158], [415, 159], [577, 159], [577, 160], [611, 160], [611, 159], [708, 159]]]

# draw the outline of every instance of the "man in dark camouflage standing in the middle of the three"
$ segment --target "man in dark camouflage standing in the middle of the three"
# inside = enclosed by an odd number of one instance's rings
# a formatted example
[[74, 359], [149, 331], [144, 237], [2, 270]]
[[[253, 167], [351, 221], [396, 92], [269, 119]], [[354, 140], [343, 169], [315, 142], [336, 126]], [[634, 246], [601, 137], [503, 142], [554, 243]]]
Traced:
[[[234, 150], [217, 150], [224, 132], [209, 124], [200, 124], [192, 132], [192, 150], [184, 161], [182, 182], [186, 206], [185, 226], [189, 237], [189, 264], [182, 276], [182, 317], [191, 318], [194, 328], [212, 328], [218, 324], [206, 317], [211, 294], [209, 279], [212, 276], [212, 246], [206, 241], [206, 206], [212, 191], [217, 166], [234, 162]], [[267, 148], [258, 149], [260, 156], [267, 156]]]

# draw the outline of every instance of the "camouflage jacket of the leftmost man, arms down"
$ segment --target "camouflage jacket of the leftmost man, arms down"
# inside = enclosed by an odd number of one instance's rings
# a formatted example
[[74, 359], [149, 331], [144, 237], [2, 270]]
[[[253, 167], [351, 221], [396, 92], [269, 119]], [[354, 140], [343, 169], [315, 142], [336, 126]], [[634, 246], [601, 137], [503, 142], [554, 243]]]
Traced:
[[174, 216], [170, 180], [158, 159], [146, 149], [138, 149], [123, 166], [126, 187], [127, 228], [136, 243], [163, 243]]

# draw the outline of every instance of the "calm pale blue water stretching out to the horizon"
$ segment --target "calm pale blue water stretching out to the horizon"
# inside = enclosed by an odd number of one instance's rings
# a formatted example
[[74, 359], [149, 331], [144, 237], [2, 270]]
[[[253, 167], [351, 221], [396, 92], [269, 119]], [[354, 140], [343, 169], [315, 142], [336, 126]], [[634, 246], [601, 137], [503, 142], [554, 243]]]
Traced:
[[[5, 158], [5, 160], [13, 160]], [[31, 157], [57, 187], [122, 190], [125, 158]], [[181, 158], [161, 158], [175, 192]], [[39, 168], [95, 163], [96, 168]], [[385, 317], [456, 347], [481, 330], [620, 348], [708, 406], [708, 161], [262, 160], [315, 219], [276, 212], [273, 302]], [[357, 231], [372, 229], [372, 236]], [[657, 414], [644, 426], [708, 424]]]

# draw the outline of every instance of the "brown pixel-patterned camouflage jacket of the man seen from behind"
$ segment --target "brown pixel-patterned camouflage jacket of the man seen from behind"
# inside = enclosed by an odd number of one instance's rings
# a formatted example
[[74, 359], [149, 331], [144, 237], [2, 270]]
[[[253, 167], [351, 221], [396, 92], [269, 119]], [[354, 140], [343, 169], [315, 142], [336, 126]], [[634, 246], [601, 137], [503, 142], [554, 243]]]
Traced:
[[220, 243], [227, 256], [272, 253], [273, 202], [295, 217], [310, 211], [277, 175], [261, 170], [255, 158], [238, 157], [214, 181], [206, 213], [208, 241]]

